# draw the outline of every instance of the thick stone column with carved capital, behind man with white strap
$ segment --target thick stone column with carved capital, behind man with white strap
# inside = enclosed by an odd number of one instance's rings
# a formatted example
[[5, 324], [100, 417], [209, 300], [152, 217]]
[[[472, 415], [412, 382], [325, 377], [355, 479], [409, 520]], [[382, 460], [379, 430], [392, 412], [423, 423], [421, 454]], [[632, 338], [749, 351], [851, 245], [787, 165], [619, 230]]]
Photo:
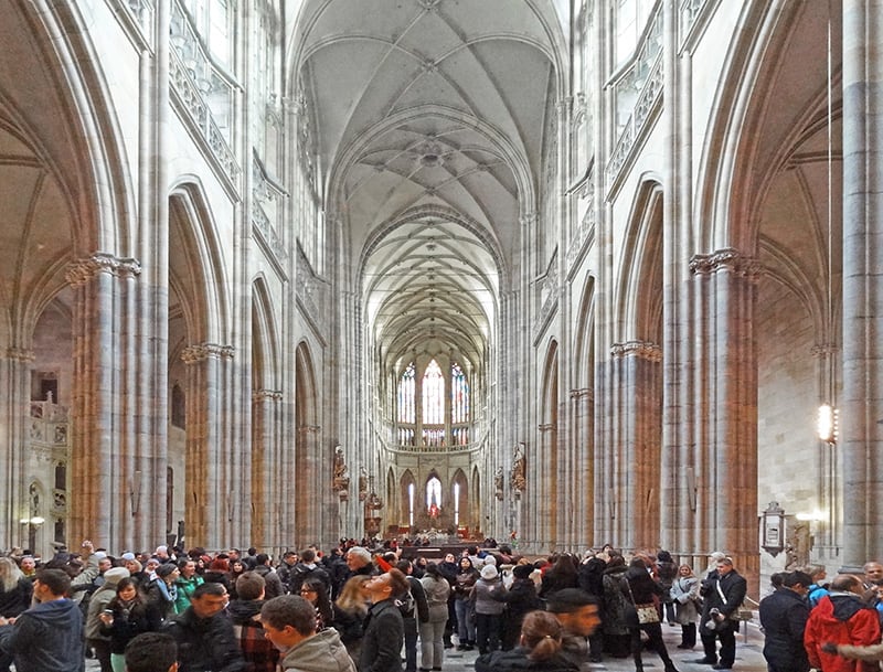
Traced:
[[702, 363], [696, 367], [695, 448], [683, 465], [695, 474], [692, 547], [724, 551], [742, 574], [756, 577], [758, 268], [732, 248], [695, 255], [690, 267], [698, 299], [695, 356]]

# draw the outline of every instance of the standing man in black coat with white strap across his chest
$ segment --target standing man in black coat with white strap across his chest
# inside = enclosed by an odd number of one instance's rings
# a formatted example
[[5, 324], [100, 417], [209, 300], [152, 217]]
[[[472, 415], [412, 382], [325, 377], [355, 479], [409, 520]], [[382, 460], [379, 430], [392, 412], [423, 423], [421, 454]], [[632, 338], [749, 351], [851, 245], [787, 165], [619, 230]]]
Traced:
[[[732, 670], [736, 660], [736, 632], [738, 621], [731, 618], [745, 599], [748, 584], [733, 568], [733, 561], [724, 557], [702, 582], [702, 620], [699, 633], [705, 657], [698, 663], [713, 665], [715, 670]], [[717, 662], [717, 639], [721, 640], [721, 661]]]

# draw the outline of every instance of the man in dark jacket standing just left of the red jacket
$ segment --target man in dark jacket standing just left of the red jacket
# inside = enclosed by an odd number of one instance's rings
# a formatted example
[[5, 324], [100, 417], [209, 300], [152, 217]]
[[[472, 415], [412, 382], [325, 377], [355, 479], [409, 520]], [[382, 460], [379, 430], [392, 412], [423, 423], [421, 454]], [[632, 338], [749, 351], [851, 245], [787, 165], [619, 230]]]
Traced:
[[804, 648], [804, 630], [809, 619], [807, 594], [812, 577], [790, 572], [781, 587], [760, 600], [764, 629], [764, 658], [769, 672], [807, 672], [809, 658]]

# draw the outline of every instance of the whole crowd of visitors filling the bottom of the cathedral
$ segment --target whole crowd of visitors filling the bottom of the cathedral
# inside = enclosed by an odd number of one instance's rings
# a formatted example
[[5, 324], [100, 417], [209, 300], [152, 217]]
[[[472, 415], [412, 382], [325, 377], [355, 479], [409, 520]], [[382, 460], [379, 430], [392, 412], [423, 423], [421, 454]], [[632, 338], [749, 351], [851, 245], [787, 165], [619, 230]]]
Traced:
[[[87, 657], [102, 672], [440, 672], [455, 647], [477, 650], [477, 672], [576, 672], [604, 657], [642, 672], [648, 651], [678, 672], [666, 621], [680, 649], [701, 641], [692, 662], [730, 670], [747, 588], [723, 553], [696, 576], [666, 551], [626, 558], [610, 545], [412, 561], [394, 544], [341, 540], [277, 565], [256, 548], [81, 551], [0, 557], [0, 672], [79, 672]], [[870, 672], [864, 661], [883, 659], [883, 566], [825, 578], [822, 567], [773, 577], [759, 608], [769, 672]]]

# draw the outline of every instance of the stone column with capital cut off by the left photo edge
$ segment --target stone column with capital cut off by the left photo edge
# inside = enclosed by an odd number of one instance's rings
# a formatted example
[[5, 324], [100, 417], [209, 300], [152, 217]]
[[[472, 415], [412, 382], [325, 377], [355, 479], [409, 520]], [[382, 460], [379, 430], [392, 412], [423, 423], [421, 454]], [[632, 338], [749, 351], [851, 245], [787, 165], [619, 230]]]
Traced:
[[0, 473], [2, 473], [3, 513], [0, 516], [0, 535], [7, 545], [26, 547], [26, 526], [20, 521], [28, 518], [28, 427], [31, 399], [31, 362], [34, 353], [23, 348], [8, 348], [0, 356]]

